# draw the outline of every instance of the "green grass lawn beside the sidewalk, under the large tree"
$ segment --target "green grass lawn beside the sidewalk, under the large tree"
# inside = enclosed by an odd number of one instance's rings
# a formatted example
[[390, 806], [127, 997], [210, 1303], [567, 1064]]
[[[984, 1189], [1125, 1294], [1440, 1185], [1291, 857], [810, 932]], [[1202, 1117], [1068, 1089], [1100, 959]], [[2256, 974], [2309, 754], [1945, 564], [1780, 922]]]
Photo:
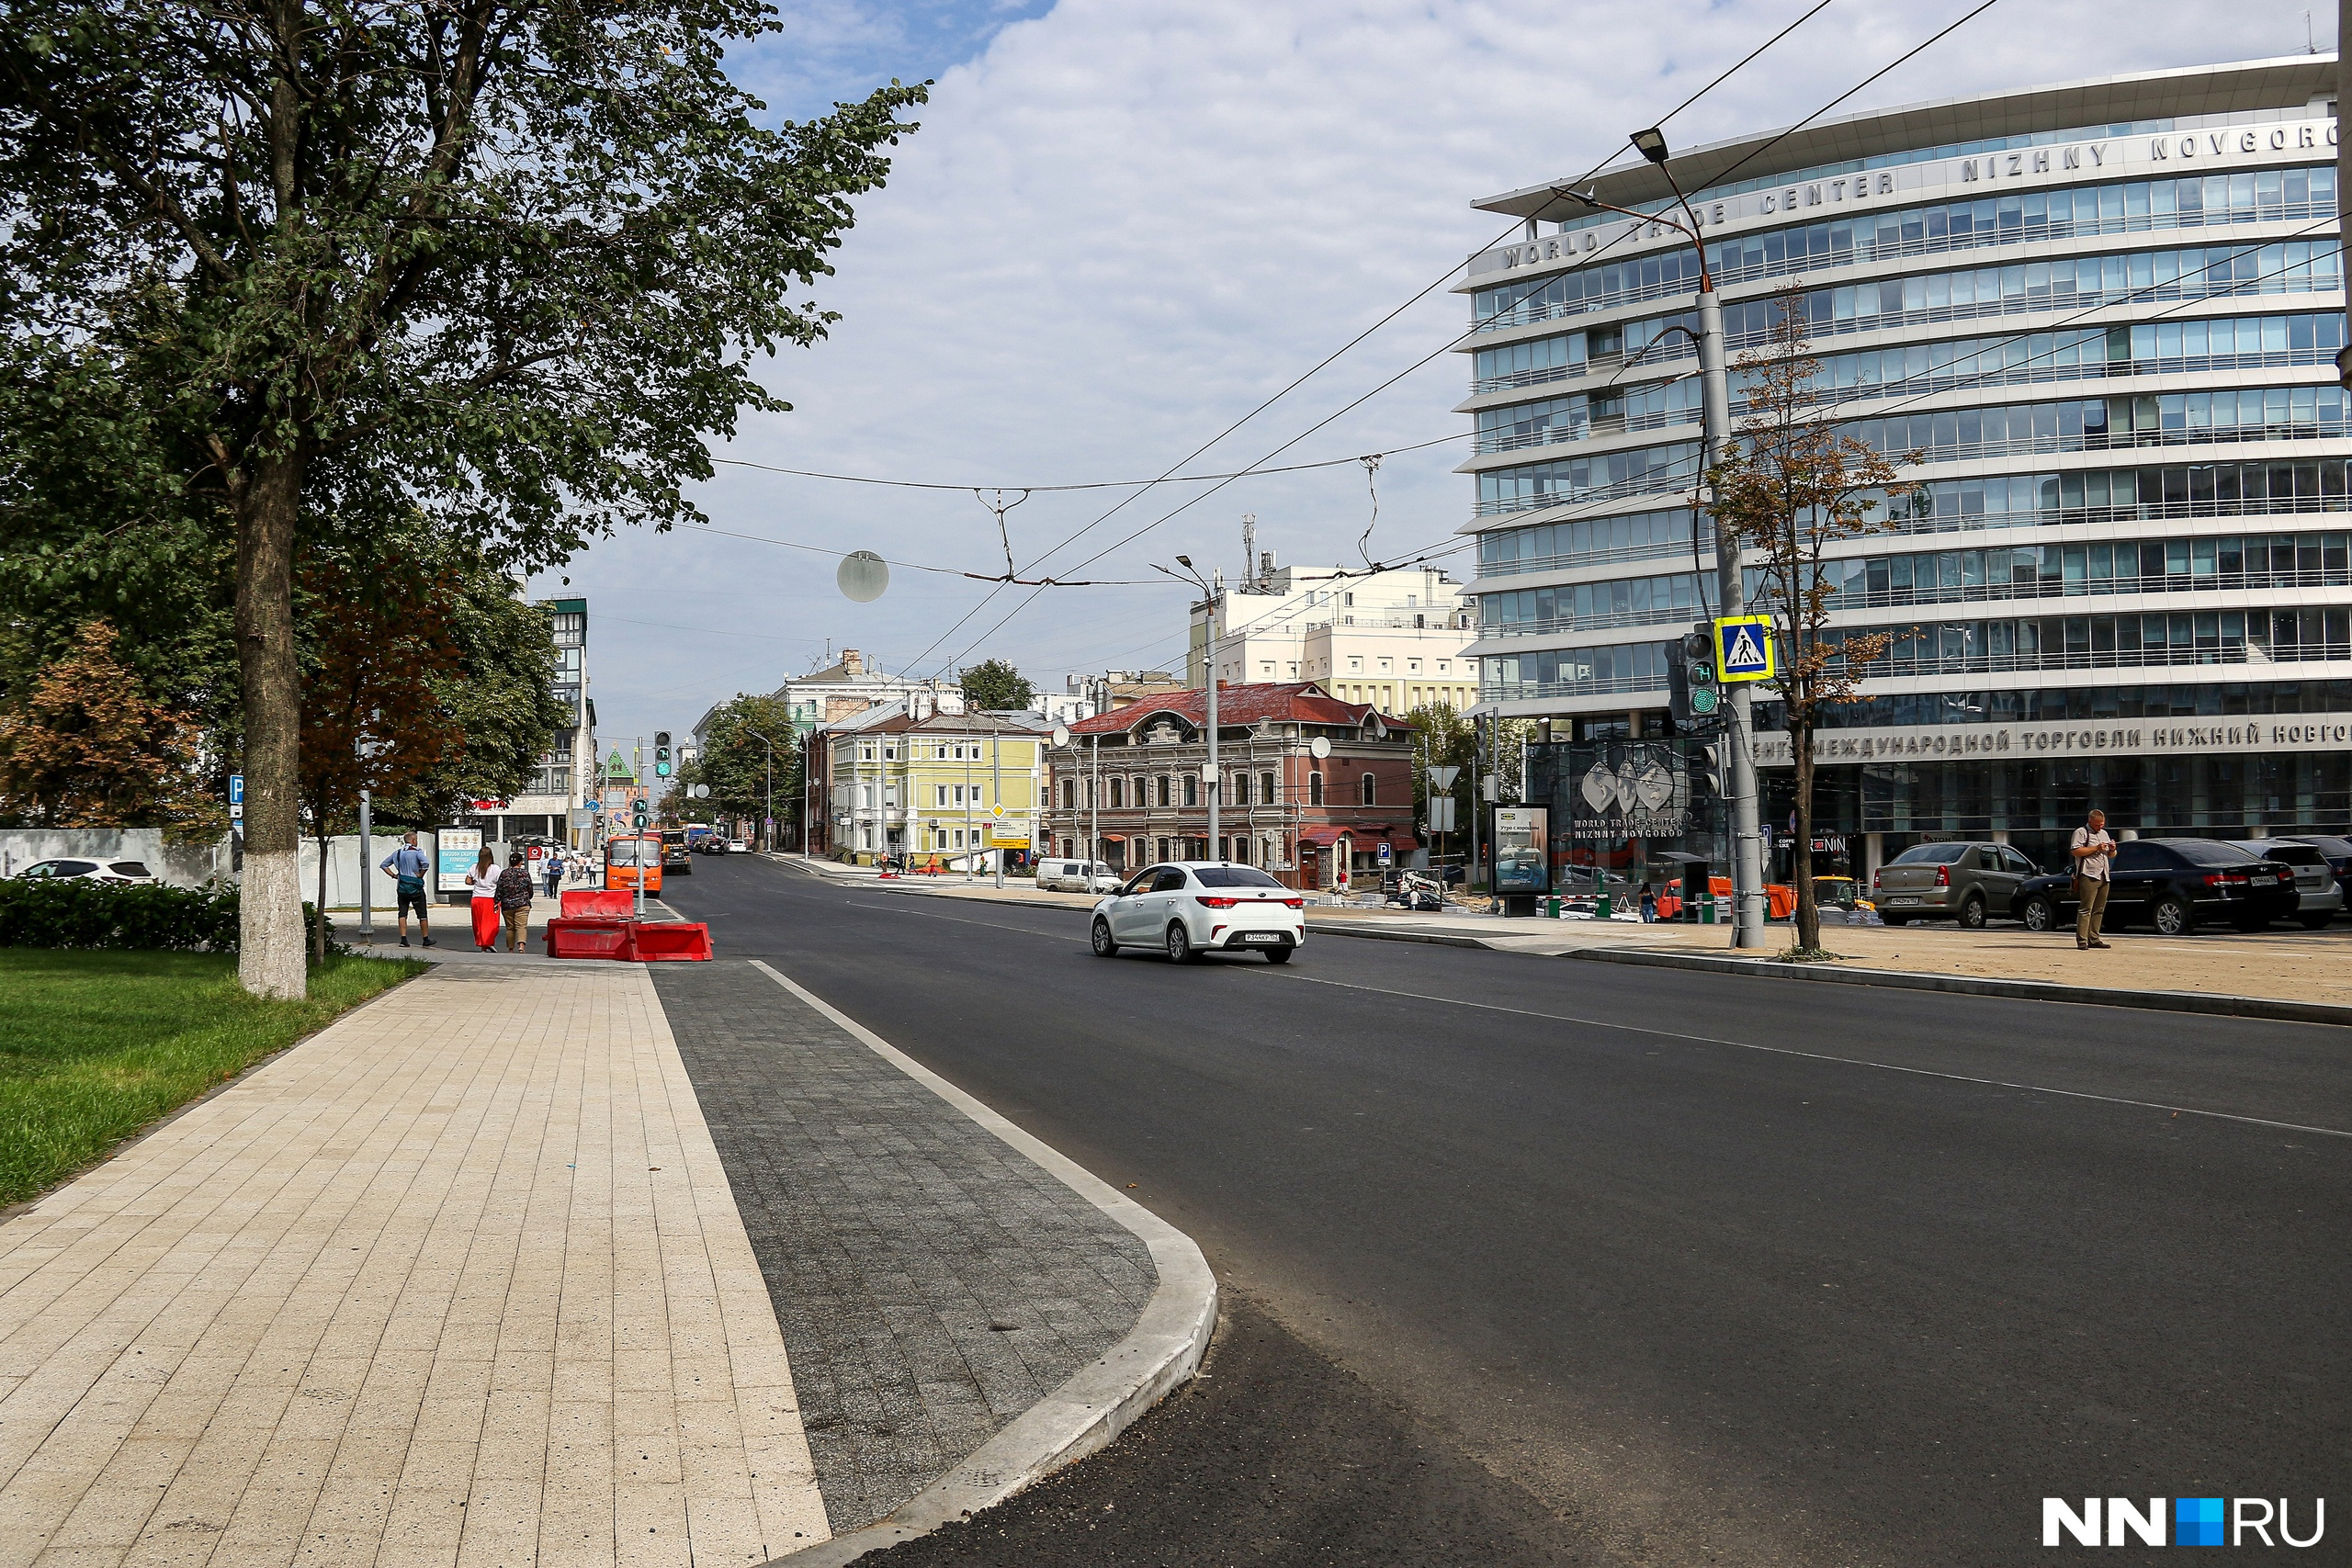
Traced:
[[261, 1001], [235, 954], [0, 947], [0, 1204], [423, 969], [327, 959], [308, 1001]]

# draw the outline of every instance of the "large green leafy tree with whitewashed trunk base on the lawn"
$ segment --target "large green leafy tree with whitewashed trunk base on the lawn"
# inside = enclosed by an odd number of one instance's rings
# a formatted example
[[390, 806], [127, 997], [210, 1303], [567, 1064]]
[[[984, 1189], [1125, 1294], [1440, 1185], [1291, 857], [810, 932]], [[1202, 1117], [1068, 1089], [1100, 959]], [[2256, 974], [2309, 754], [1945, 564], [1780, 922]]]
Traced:
[[414, 510], [536, 569], [696, 520], [706, 437], [788, 407], [753, 353], [826, 331], [793, 294], [924, 89], [762, 127], [722, 61], [774, 31], [762, 0], [9, 9], [0, 425], [59, 444], [0, 505], [52, 548], [226, 522], [247, 990], [303, 994], [299, 543]]

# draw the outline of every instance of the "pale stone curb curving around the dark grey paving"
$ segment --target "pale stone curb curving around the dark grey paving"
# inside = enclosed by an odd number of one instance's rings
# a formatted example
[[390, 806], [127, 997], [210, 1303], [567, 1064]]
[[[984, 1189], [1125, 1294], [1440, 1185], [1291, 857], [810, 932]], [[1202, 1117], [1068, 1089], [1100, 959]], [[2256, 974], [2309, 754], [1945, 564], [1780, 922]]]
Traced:
[[988, 1105], [913, 1060], [856, 1018], [795, 985], [760, 959], [750, 964], [847, 1030], [891, 1067], [1018, 1150], [1063, 1187], [1124, 1225], [1150, 1251], [1152, 1267], [1160, 1274], [1160, 1286], [1143, 1305], [1143, 1314], [1127, 1331], [1127, 1338], [1070, 1373], [1058, 1389], [1014, 1418], [938, 1481], [863, 1530], [851, 1530], [849, 1535], [837, 1535], [774, 1559], [776, 1563], [790, 1563], [790, 1568], [833, 1568], [835, 1563], [854, 1563], [868, 1552], [884, 1552], [898, 1542], [927, 1535], [943, 1523], [969, 1519], [978, 1509], [1004, 1502], [1021, 1488], [1042, 1481], [1063, 1465], [1103, 1448], [1134, 1425], [1138, 1415], [1160, 1403], [1169, 1389], [1200, 1371], [1200, 1359], [1209, 1349], [1209, 1333], [1216, 1328], [1216, 1274], [1209, 1272], [1209, 1260], [1202, 1258], [1192, 1237], [1044, 1140], [988, 1110]]

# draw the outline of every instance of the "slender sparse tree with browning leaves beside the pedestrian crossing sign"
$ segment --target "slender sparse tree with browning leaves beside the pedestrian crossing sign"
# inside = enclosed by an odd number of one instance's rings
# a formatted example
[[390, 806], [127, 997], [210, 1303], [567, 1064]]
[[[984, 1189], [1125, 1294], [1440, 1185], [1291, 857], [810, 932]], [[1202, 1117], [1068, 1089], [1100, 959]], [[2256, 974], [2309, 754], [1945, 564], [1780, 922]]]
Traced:
[[[1820, 360], [1806, 336], [1804, 294], [1776, 301], [1771, 339], [1738, 357], [1748, 416], [1708, 470], [1715, 515], [1757, 569], [1748, 609], [1771, 616], [1776, 675], [1797, 769], [1797, 952], [1820, 950], [1813, 903], [1813, 726], [1820, 710], [1860, 693], [1860, 668], [1886, 654], [1886, 632], [1830, 632], [1837, 585], [1823, 571], [1830, 545], [1886, 531], [1896, 463], [1818, 416]], [[1922, 454], [1900, 461], [1917, 463]]]

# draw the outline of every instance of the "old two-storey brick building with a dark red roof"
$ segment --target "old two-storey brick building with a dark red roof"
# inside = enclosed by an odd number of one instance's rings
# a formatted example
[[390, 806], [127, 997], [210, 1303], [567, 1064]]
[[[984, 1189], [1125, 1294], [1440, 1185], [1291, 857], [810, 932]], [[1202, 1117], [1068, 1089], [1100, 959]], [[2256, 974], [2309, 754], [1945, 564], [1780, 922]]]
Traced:
[[1418, 849], [1406, 724], [1312, 682], [1223, 686], [1216, 708], [1216, 844], [1202, 780], [1207, 693], [1169, 691], [1080, 719], [1068, 748], [1047, 748], [1047, 853], [1122, 870], [1237, 860], [1287, 886], [1331, 889], [1341, 867], [1350, 884], [1376, 875], [1383, 844], [1397, 865]]

